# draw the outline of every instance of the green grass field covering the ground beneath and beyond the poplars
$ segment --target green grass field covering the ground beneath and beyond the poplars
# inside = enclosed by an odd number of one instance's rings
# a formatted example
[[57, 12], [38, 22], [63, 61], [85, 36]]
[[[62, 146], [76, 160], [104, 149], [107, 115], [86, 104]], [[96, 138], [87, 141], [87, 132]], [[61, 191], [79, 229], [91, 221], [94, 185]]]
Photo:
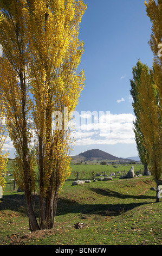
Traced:
[[[10, 163], [8, 167], [11, 172]], [[0, 204], [0, 245], [161, 245], [162, 201], [155, 203], [152, 176], [117, 176], [111, 181], [72, 186], [77, 172], [89, 179], [92, 172], [127, 172], [130, 167], [72, 164], [72, 174], [60, 192], [55, 228], [35, 233], [28, 229], [24, 195], [13, 191], [12, 176], [7, 176]], [[143, 167], [134, 165], [134, 170], [142, 172]], [[75, 229], [77, 222], [85, 227]]]

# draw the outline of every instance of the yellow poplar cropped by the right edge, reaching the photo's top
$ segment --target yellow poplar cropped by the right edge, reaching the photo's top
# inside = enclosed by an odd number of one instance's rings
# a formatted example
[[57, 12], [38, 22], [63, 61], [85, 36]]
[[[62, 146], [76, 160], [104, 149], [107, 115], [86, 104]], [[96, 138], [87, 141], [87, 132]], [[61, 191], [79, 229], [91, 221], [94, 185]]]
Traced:
[[[159, 144], [157, 144], [157, 147], [159, 147], [159, 152], [162, 155], [162, 143], [161, 143], [161, 133], [162, 133], [162, 1], [161, 0], [148, 0], [148, 3], [145, 1], [146, 5], [146, 12], [147, 16], [150, 17], [150, 21], [152, 22], [152, 33], [151, 33], [151, 39], [148, 42], [148, 44], [151, 47], [151, 50], [154, 55], [153, 59], [153, 68], [152, 68], [152, 77], [154, 81], [154, 88], [155, 88], [155, 94], [157, 98], [157, 111], [158, 111], [158, 121], [157, 121], [157, 127], [154, 129], [157, 129], [159, 131]], [[155, 115], [156, 119], [156, 115]], [[156, 147], [155, 147], [156, 149]], [[155, 150], [156, 151], [156, 150]], [[154, 153], [155, 157], [156, 152]], [[157, 157], [157, 156], [156, 156]], [[158, 159], [158, 157], [157, 157]], [[155, 177], [155, 180], [157, 181], [157, 194], [158, 194], [158, 179], [161, 175], [161, 162], [162, 162], [162, 156], [159, 156], [159, 163], [158, 166], [155, 167], [152, 172]], [[160, 169], [161, 168], [161, 169]], [[159, 202], [159, 198], [157, 196], [157, 202]]]

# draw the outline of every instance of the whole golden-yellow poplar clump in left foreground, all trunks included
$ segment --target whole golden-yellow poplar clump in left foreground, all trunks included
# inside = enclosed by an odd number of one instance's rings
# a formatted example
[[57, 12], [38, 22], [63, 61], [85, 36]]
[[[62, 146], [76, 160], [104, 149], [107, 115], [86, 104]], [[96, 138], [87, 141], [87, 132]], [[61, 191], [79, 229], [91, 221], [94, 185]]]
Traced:
[[[30, 230], [53, 228], [59, 191], [70, 174], [67, 109], [74, 111], [85, 80], [77, 67], [86, 5], [80, 0], [2, 0], [0, 8], [0, 92], [16, 149], [14, 176], [24, 190]], [[39, 224], [32, 205], [36, 163]]]

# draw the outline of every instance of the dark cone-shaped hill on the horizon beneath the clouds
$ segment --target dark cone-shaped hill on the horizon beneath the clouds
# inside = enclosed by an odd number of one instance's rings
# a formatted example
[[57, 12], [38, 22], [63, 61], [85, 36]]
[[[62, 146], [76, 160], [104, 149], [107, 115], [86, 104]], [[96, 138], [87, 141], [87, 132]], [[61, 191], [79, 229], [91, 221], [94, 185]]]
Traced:
[[[100, 150], [100, 149], [87, 150], [83, 153], [80, 153], [77, 156], [72, 156], [72, 159], [76, 160], [76, 161], [124, 160], [123, 158], [113, 156], [111, 154], [106, 153], [105, 151]], [[131, 159], [128, 159], [128, 160], [131, 161]]]

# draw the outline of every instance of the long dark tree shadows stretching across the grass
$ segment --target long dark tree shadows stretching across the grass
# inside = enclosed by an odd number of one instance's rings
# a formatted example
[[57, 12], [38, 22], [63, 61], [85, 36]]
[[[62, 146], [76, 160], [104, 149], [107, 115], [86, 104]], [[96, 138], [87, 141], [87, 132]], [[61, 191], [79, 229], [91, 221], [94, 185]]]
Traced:
[[[129, 194], [120, 194], [118, 192], [101, 188], [90, 188], [95, 193], [101, 194], [102, 196], [107, 197], [116, 197], [119, 199], [154, 199], [152, 196], [132, 196]], [[76, 199], [77, 200], [77, 199]], [[124, 212], [132, 210], [140, 205], [150, 204], [152, 202], [139, 202], [139, 203], [117, 203], [116, 204], [81, 204], [76, 200], [70, 200], [68, 198], [60, 197], [57, 203], [57, 212], [56, 216], [66, 215], [66, 214], [95, 214], [95, 215], [103, 215], [103, 216], [118, 216], [124, 214]], [[133, 201], [133, 200], [132, 200]], [[35, 212], [38, 217], [38, 197], [35, 200]], [[1, 210], [11, 210], [17, 211], [24, 216], [28, 216], [27, 208], [25, 203], [24, 194], [12, 194], [3, 196], [2, 203], [0, 203], [0, 211]]]

